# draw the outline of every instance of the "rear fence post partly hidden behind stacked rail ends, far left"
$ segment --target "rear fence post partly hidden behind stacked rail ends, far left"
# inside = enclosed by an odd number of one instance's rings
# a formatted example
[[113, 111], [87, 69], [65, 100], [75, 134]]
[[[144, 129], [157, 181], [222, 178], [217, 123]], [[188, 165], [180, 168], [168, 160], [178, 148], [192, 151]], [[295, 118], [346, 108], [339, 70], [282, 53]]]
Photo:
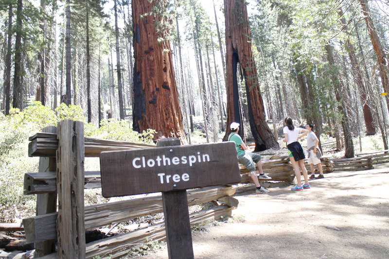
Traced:
[[[54, 126], [46, 127], [42, 130], [46, 133], [57, 133], [57, 128]], [[40, 157], [38, 172], [55, 172], [57, 163], [55, 157]], [[57, 210], [57, 193], [42, 193], [36, 194], [36, 215], [43, 215], [52, 213]], [[42, 257], [55, 252], [55, 240], [48, 240], [43, 242], [35, 242], [34, 257]]]

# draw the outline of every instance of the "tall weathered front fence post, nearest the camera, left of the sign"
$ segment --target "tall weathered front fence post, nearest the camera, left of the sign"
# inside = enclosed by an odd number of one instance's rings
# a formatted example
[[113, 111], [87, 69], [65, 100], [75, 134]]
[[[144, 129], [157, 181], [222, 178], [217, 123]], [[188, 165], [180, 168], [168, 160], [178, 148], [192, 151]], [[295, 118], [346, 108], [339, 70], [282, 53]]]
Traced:
[[85, 259], [84, 123], [58, 122], [57, 242], [59, 259]]

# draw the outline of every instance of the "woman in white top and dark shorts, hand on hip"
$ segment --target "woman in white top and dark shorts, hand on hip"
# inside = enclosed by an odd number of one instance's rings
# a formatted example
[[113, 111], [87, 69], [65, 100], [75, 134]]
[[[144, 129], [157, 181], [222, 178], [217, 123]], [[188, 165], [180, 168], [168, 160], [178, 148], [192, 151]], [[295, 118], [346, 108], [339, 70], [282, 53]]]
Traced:
[[[308, 134], [308, 130], [303, 128], [296, 128], [293, 125], [291, 118], [285, 118], [283, 121], [285, 127], [283, 128], [283, 142], [286, 142], [288, 147], [288, 155], [290, 162], [292, 163], [293, 169], [295, 170], [297, 185], [291, 190], [303, 190], [311, 188], [308, 182], [308, 172], [304, 166], [304, 151], [302, 150], [301, 144], [299, 143], [299, 138], [304, 137]], [[299, 134], [302, 133], [300, 136]], [[301, 173], [304, 176], [305, 183], [301, 185]]]

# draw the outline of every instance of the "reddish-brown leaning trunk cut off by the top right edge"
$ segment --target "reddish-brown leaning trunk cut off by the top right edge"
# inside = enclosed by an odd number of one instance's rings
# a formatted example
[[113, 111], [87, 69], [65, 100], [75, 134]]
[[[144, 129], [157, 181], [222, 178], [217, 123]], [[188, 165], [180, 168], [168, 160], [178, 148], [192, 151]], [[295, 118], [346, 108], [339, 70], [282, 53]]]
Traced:
[[[366, 26], [369, 30], [371, 44], [377, 54], [378, 68], [380, 70], [381, 82], [385, 92], [389, 92], [389, 64], [388, 58], [384, 52], [381, 41], [378, 38], [377, 31], [374, 27], [374, 22], [370, 17], [370, 9], [367, 0], [359, 0], [362, 6], [362, 14], [364, 15]], [[388, 96], [387, 96], [388, 97]], [[388, 99], [387, 99], [388, 102]], [[388, 106], [389, 110], [389, 106]]]

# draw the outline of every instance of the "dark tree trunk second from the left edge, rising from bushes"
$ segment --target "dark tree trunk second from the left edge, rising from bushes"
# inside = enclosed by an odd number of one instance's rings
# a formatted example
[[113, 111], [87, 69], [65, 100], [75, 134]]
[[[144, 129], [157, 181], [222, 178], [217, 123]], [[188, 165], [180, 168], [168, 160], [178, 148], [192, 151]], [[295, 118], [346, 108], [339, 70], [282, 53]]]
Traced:
[[18, 8], [16, 11], [16, 39], [15, 39], [15, 74], [14, 74], [14, 93], [12, 106], [23, 110], [23, 84], [22, 84], [22, 56], [21, 56], [21, 34], [22, 34], [22, 14], [23, 1], [18, 0]]

